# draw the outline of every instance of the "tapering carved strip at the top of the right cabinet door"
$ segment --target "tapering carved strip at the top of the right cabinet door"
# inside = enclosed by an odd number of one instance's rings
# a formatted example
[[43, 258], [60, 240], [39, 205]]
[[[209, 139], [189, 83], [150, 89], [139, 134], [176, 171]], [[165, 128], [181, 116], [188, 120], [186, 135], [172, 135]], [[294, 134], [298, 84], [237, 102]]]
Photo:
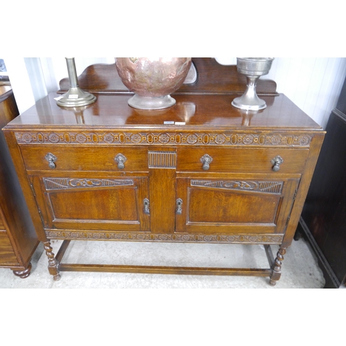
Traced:
[[191, 186], [203, 186], [203, 188], [220, 188], [228, 190], [244, 190], [254, 192], [266, 192], [281, 194], [284, 186], [283, 181], [212, 181], [212, 180], [191, 180]]

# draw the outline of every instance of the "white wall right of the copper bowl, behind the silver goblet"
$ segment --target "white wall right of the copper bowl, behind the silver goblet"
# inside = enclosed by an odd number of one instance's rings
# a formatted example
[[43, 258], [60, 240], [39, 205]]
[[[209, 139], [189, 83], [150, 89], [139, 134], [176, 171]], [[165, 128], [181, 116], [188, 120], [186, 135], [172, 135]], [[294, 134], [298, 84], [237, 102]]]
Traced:
[[[221, 64], [236, 64], [234, 58], [216, 58]], [[322, 127], [336, 107], [346, 78], [345, 57], [277, 57], [262, 79], [275, 80], [284, 93]]]

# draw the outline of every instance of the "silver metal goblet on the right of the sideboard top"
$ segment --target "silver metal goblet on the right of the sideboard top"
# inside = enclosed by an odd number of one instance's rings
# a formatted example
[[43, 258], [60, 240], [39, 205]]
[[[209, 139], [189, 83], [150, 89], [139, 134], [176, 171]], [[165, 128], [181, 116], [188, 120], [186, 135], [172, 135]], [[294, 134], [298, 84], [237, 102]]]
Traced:
[[256, 93], [256, 83], [261, 75], [267, 75], [271, 69], [273, 57], [237, 57], [238, 73], [246, 75], [246, 91], [232, 102], [234, 107], [247, 111], [259, 111], [266, 108], [266, 102]]

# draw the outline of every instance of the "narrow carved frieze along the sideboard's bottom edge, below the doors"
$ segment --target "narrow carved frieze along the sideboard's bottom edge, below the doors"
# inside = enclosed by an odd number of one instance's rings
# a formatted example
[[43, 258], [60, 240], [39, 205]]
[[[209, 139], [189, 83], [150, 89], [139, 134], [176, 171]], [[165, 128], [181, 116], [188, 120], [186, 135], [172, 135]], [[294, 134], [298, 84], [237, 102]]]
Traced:
[[283, 235], [223, 235], [192, 233], [143, 233], [143, 232], [94, 232], [73, 230], [47, 230], [48, 239], [75, 240], [120, 240], [136, 242], [192, 242], [192, 243], [235, 243], [235, 244], [281, 244]]

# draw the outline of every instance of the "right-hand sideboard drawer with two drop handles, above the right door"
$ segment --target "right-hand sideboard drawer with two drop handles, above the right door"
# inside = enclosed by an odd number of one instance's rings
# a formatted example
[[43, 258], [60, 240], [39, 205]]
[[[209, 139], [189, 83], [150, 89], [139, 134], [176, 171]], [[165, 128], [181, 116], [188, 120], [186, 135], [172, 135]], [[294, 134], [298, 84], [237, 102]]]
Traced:
[[[245, 173], [302, 173], [309, 149], [245, 149], [245, 148], [178, 148], [179, 172], [245, 172]], [[209, 169], [203, 170], [201, 158], [212, 158]], [[283, 162], [273, 171], [273, 158], [280, 156]]]

